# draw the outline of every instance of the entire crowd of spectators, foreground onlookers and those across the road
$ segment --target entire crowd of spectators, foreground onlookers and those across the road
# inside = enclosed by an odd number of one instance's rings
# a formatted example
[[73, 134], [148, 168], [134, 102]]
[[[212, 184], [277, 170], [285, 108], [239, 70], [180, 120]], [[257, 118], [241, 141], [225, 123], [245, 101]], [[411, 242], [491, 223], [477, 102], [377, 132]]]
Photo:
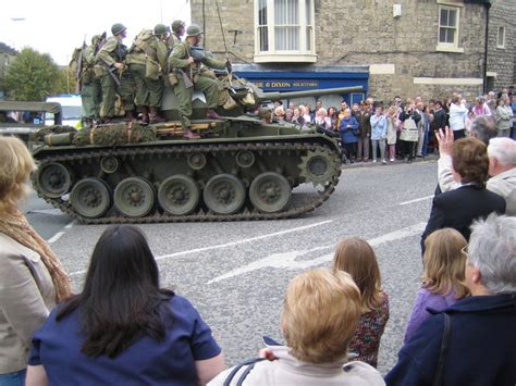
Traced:
[[[373, 162], [395, 157], [393, 132], [402, 157], [422, 157], [421, 121], [443, 125], [435, 134], [439, 186], [421, 237], [421, 286], [398, 361], [384, 378], [378, 351], [390, 301], [398, 299], [382, 287], [367, 241], [342, 240], [331, 267], [291, 282], [280, 320], [286, 345], [266, 338], [259, 358], [224, 370], [210, 327], [187, 299], [160, 286], [135, 226], [103, 232], [83, 290], [71, 294], [59, 259], [17, 209], [35, 163], [19, 139], [0, 138], [0, 385], [514, 385], [516, 142], [504, 137], [502, 119], [487, 114], [489, 101], [476, 101], [472, 109], [483, 114], [469, 128], [455, 116], [465, 114], [460, 96], [451, 98], [450, 116], [444, 105], [435, 101], [430, 113], [420, 98], [396, 98], [390, 107], [369, 99], [329, 109], [331, 115], [319, 104], [314, 117], [339, 129], [355, 161], [371, 150]], [[290, 116], [279, 108], [267, 120]], [[310, 120], [309, 109], [293, 108], [292, 119]]]

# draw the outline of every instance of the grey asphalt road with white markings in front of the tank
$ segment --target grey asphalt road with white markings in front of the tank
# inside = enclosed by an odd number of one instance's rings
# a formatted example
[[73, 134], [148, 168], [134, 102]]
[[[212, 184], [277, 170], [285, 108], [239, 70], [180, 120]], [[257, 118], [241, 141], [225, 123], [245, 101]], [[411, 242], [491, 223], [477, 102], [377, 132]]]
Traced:
[[[157, 258], [161, 285], [195, 304], [229, 365], [255, 357], [263, 335], [282, 340], [283, 296], [296, 274], [331, 266], [343, 237], [365, 238], [374, 248], [390, 297], [391, 316], [379, 356], [379, 370], [385, 374], [396, 362], [419, 287], [419, 239], [435, 184], [435, 159], [384, 166], [357, 163], [343, 167], [327, 202], [297, 219], [139, 226]], [[302, 185], [294, 195], [311, 191]], [[34, 196], [26, 208], [79, 290], [106, 226], [75, 223]]]

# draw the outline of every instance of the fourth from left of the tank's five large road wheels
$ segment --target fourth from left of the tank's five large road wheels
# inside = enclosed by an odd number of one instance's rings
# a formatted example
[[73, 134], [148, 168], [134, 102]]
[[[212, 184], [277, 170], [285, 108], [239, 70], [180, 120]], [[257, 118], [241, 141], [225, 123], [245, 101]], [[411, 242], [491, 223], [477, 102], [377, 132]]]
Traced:
[[218, 214], [238, 212], [245, 202], [245, 187], [232, 174], [218, 174], [211, 177], [202, 191], [206, 206]]

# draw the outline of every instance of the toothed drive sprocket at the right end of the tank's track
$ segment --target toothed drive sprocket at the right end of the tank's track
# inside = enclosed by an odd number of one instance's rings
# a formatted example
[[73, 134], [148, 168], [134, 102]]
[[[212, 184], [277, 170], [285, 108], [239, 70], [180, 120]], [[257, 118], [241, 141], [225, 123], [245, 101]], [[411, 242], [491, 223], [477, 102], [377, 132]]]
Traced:
[[305, 177], [307, 183], [324, 186], [334, 174], [335, 160], [329, 150], [309, 150], [305, 157], [302, 157], [298, 167], [302, 170], [299, 176]]

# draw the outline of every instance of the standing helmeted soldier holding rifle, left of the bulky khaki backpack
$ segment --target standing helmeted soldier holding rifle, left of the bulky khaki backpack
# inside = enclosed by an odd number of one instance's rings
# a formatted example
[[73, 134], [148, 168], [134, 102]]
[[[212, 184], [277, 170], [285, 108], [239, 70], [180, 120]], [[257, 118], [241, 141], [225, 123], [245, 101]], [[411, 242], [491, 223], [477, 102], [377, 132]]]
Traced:
[[114, 116], [114, 107], [116, 94], [120, 95], [124, 104], [125, 116], [133, 117], [134, 111], [134, 83], [130, 72], [124, 64], [127, 48], [122, 43], [126, 36], [125, 26], [115, 23], [111, 27], [111, 36], [106, 45], [97, 53], [97, 63], [101, 65], [102, 77], [102, 104], [100, 108], [100, 116], [105, 123], [109, 123]]

